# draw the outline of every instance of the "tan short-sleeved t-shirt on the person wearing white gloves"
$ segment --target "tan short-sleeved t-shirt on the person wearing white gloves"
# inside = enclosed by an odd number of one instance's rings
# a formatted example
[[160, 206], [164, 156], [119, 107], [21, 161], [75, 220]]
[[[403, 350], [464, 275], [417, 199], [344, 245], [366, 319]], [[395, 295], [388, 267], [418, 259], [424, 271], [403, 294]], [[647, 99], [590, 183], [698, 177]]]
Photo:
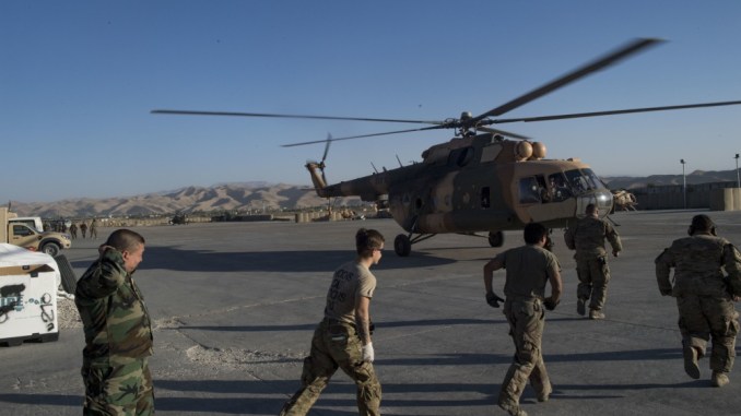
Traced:
[[355, 323], [355, 299], [360, 296], [373, 298], [376, 276], [368, 268], [355, 261], [342, 264], [332, 277], [327, 292], [325, 318]]

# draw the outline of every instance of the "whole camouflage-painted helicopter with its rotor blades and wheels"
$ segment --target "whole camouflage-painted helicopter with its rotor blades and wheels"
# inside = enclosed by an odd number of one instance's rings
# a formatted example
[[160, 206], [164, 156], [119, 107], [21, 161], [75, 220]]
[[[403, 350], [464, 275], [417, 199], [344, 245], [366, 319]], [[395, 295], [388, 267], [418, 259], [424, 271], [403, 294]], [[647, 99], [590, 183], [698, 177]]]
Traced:
[[[457, 233], [486, 237], [492, 247], [504, 243], [505, 230], [521, 229], [530, 222], [563, 228], [583, 216], [588, 204], [599, 207], [602, 217], [613, 207], [613, 195], [595, 171], [578, 159], [546, 159], [545, 146], [529, 138], [493, 129], [489, 126], [507, 122], [546, 121], [632, 112], [738, 105], [741, 102], [717, 102], [663, 107], [632, 108], [611, 111], [567, 114], [545, 117], [495, 119], [533, 99], [549, 94], [595, 71], [607, 68], [631, 55], [659, 43], [636, 39], [622, 48], [578, 68], [537, 90], [499, 107], [473, 117], [443, 121], [398, 120], [357, 117], [275, 115], [257, 112], [153, 110], [153, 114], [195, 116], [273, 117], [319, 120], [408, 122], [431, 124], [417, 129], [285, 144], [284, 146], [326, 143], [320, 162], [306, 164], [319, 197], [360, 197], [388, 209], [393, 219], [407, 231], [393, 241], [398, 255], [407, 257], [413, 243], [437, 234]], [[387, 134], [437, 129], [454, 129], [447, 143], [433, 145], [422, 153], [423, 161], [395, 169], [328, 185], [325, 159], [331, 142]], [[506, 138], [515, 139], [507, 140]]]

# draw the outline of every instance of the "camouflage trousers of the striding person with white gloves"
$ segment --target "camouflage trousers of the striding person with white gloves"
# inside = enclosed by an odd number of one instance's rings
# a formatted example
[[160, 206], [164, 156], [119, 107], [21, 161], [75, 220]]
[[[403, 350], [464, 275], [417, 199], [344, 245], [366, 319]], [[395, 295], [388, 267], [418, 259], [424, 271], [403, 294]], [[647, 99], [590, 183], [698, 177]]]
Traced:
[[357, 387], [356, 401], [361, 416], [380, 415], [380, 383], [373, 364], [363, 361], [361, 340], [355, 326], [325, 319], [311, 338], [311, 353], [304, 358], [301, 389], [289, 400], [281, 416], [306, 415], [338, 367]]

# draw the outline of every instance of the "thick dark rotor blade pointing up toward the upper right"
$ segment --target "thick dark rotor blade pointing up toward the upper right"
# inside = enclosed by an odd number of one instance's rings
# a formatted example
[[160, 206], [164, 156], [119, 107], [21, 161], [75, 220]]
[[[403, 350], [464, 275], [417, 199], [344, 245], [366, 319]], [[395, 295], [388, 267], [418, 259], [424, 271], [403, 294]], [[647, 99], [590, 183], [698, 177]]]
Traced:
[[579, 80], [595, 71], [599, 71], [605, 67], [609, 67], [613, 63], [616, 63], [618, 61], [627, 58], [628, 56], [636, 54], [649, 46], [652, 46], [659, 41], [663, 41], [661, 39], [654, 39], [654, 38], [648, 38], [648, 39], [636, 39], [633, 40], [632, 43], [627, 44], [626, 46], [615, 50], [614, 52], [611, 52], [603, 58], [600, 58], [591, 63], [587, 63], [586, 66], [572, 71], [554, 81], [551, 81], [550, 83], [536, 88], [525, 95], [521, 95], [509, 103], [503, 104], [494, 109], [491, 109], [481, 116], [474, 117], [470, 120], [471, 124], [474, 126], [479, 121], [487, 118], [487, 117], [493, 117], [493, 116], [501, 116], [505, 112], [511, 111], [513, 109], [520, 107], [527, 103], [532, 102], [533, 99], [540, 98], [545, 94], [552, 93], [553, 91], [561, 88], [564, 85], [567, 85], [576, 80]]

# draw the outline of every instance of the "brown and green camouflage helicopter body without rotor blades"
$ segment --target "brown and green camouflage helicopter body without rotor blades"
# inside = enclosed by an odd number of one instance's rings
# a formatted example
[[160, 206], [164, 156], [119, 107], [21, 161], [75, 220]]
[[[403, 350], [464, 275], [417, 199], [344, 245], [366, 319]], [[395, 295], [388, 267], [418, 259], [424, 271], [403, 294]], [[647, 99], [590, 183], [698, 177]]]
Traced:
[[421, 163], [317, 187], [317, 193], [363, 201], [387, 197], [396, 222], [421, 235], [495, 233], [531, 222], [558, 228], [583, 215], [589, 203], [602, 215], [611, 211], [612, 193], [589, 166], [543, 159], [544, 152], [539, 143], [491, 133], [452, 139], [425, 151]]

